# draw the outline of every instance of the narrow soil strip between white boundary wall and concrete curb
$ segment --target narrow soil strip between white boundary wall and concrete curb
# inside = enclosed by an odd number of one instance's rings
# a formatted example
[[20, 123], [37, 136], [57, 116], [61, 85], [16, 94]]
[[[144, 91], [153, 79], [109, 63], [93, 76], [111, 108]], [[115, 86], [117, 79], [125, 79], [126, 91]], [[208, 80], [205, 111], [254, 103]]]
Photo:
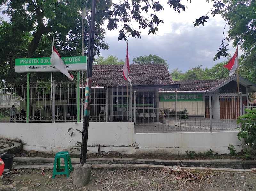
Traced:
[[[238, 159], [244, 160], [242, 157], [243, 153], [237, 153], [237, 156], [232, 156], [230, 154], [211, 154], [211, 155], [202, 155], [202, 156], [186, 156], [186, 155], [122, 155], [118, 152], [101, 152], [100, 154], [87, 154], [87, 158], [141, 158], [141, 159], [162, 159], [162, 160], [188, 160], [188, 159]], [[44, 158], [54, 158], [55, 154], [37, 152], [37, 153], [29, 153], [28, 151], [22, 150], [18, 153], [15, 153], [15, 157], [44, 157]], [[70, 154], [71, 158], [80, 158], [80, 155]], [[256, 156], [252, 155], [251, 160], [256, 160]]]

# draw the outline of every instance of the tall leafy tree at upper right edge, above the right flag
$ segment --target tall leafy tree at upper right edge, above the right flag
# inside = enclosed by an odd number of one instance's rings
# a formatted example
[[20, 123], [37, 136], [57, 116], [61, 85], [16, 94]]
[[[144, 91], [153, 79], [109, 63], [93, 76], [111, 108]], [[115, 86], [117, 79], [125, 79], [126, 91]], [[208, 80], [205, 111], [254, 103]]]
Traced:
[[[244, 52], [241, 55], [241, 74], [249, 80], [256, 81], [256, 2], [228, 0], [229, 8], [222, 13], [227, 20], [230, 29], [229, 38], [233, 40], [233, 46], [239, 45]], [[240, 73], [240, 70], [239, 70]]]

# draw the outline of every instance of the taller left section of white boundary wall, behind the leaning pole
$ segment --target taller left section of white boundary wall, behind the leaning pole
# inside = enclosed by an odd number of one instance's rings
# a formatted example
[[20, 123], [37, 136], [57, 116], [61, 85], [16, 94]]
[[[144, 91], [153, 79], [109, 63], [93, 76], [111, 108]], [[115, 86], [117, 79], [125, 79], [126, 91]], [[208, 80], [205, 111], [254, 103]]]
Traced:
[[[69, 128], [73, 128], [68, 132]], [[25, 142], [25, 150], [46, 151], [56, 153], [76, 147], [81, 142], [83, 123], [0, 123], [1, 139], [21, 139]], [[74, 132], [71, 136], [70, 134]], [[134, 124], [122, 123], [90, 123], [88, 134], [88, 151], [118, 151], [123, 154], [134, 153]], [[72, 149], [75, 153], [77, 150]], [[80, 153], [80, 152], [78, 152]]]

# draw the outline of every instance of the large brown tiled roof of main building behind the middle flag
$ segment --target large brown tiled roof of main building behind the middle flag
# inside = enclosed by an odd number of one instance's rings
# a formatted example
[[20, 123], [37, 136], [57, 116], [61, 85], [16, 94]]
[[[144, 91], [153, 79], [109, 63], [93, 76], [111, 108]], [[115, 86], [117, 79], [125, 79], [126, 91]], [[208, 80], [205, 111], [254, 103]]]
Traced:
[[[92, 87], [126, 85], [124, 65], [93, 65]], [[133, 85], [174, 84], [164, 64], [131, 64], [129, 77]]]

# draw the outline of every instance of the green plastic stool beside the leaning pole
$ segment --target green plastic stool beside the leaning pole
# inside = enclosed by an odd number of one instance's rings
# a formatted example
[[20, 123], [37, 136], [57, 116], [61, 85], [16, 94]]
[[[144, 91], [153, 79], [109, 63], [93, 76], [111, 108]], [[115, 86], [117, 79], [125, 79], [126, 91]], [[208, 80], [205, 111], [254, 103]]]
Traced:
[[[64, 158], [65, 166], [60, 166], [60, 158]], [[70, 155], [68, 151], [61, 151], [56, 153], [54, 164], [53, 164], [53, 172], [52, 172], [52, 178], [55, 178], [55, 175], [57, 174], [66, 174], [67, 178], [69, 177], [69, 172], [72, 171], [72, 164], [70, 160]], [[56, 171], [57, 166], [57, 171]], [[65, 171], [60, 172], [60, 169], [64, 168]]]

